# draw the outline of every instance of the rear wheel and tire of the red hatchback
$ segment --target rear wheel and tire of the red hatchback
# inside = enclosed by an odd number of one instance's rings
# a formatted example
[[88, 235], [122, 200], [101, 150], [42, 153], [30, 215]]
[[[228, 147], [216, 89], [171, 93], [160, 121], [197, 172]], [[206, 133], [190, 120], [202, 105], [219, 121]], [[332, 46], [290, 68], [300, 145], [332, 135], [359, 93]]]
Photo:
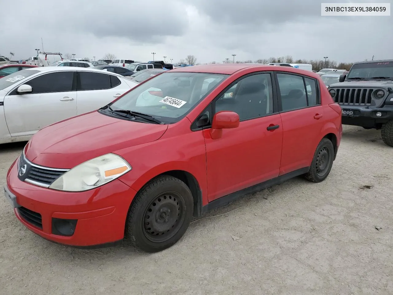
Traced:
[[312, 158], [309, 172], [305, 178], [313, 183], [326, 179], [333, 166], [334, 147], [328, 138], [322, 138]]

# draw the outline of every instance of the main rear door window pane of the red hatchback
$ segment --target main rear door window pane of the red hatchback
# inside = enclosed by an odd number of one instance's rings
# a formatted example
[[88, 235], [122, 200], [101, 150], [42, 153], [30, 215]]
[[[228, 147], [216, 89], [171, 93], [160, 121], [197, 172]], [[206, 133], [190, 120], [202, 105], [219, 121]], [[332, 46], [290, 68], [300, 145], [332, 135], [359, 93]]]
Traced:
[[303, 77], [291, 74], [277, 74], [283, 111], [307, 107], [307, 94]]

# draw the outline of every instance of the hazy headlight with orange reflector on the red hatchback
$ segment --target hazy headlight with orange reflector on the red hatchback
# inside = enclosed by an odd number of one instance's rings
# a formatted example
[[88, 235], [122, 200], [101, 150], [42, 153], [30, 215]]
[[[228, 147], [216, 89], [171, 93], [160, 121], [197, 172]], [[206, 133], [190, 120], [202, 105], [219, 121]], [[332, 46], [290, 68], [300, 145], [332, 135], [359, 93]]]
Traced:
[[67, 192], [83, 192], [108, 183], [131, 169], [130, 164], [122, 157], [109, 153], [68, 170], [49, 188]]

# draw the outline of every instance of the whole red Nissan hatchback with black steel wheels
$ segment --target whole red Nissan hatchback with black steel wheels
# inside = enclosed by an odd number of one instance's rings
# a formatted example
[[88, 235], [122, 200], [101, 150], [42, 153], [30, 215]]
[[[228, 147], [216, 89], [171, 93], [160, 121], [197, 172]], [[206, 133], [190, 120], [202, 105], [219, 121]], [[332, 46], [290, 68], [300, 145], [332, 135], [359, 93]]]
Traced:
[[254, 64], [169, 70], [37, 132], [7, 173], [17, 218], [53, 242], [147, 252], [193, 217], [298, 175], [323, 181], [342, 136], [320, 76]]

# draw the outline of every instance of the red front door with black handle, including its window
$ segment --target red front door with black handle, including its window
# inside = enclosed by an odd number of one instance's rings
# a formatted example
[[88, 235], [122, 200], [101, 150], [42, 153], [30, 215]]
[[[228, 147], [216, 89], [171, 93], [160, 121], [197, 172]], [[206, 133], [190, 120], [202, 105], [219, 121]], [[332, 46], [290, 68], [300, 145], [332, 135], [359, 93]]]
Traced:
[[219, 139], [204, 130], [209, 202], [279, 175], [283, 130], [273, 98], [271, 74], [259, 73], [235, 81], [213, 102], [215, 112], [237, 112], [241, 122]]

